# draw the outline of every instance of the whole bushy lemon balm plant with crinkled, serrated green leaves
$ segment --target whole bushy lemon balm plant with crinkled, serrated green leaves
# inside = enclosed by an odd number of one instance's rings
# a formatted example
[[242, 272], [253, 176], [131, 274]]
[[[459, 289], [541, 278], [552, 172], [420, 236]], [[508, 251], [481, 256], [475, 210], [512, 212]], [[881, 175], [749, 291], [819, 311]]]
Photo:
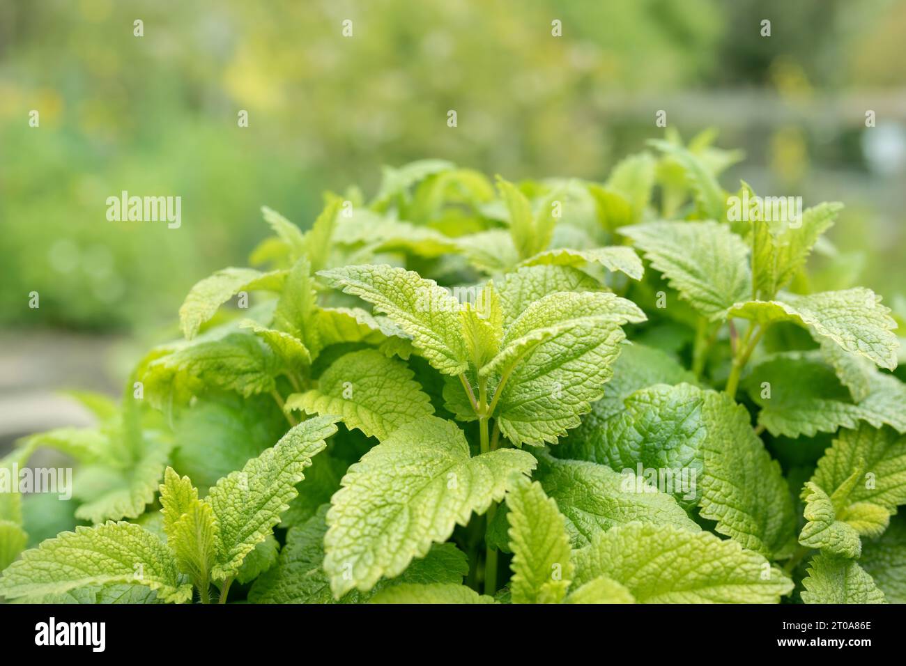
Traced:
[[74, 458], [82, 525], [24, 550], [0, 496], [0, 594], [906, 600], [896, 321], [806, 270], [840, 207], [777, 219], [708, 136], [652, 149], [601, 184], [385, 169], [306, 232], [265, 208], [120, 407], [2, 461]]

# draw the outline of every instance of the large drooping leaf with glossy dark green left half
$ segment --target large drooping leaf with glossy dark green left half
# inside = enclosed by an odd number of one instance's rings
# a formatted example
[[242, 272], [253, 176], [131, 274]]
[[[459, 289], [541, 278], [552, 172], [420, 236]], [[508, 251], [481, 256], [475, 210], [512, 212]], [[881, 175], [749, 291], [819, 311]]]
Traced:
[[720, 534], [763, 555], [783, 552], [793, 537], [792, 500], [745, 408], [689, 384], [655, 385], [623, 404], [620, 412], [604, 411], [590, 442], [574, 442], [564, 455], [651, 474], [686, 504], [697, 494], [701, 516], [717, 521]]

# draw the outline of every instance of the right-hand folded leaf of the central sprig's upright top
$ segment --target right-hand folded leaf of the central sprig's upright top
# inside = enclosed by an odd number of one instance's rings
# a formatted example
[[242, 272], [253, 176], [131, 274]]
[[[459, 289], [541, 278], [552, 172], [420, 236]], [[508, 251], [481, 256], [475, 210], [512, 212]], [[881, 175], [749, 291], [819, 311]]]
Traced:
[[612, 377], [622, 325], [642, 321], [614, 294], [551, 294], [527, 307], [491, 362], [508, 380], [495, 412], [501, 432], [517, 445], [554, 443], [578, 426]]

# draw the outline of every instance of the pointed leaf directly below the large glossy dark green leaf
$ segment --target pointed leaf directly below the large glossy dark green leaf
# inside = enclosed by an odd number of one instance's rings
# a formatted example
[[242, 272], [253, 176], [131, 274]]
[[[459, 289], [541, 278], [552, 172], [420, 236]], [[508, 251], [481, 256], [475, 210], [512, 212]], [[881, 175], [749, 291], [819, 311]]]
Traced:
[[599, 532], [631, 522], [700, 529], [673, 497], [631, 469], [615, 472], [604, 465], [558, 460], [546, 453], [536, 458], [534, 478], [556, 500], [573, 547], [588, 545]]

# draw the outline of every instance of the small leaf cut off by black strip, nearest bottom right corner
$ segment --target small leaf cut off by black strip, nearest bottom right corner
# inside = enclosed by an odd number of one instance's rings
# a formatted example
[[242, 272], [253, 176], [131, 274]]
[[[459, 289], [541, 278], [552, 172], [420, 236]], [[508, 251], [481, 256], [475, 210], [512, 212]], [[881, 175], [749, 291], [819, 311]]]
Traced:
[[887, 603], [872, 576], [845, 557], [815, 555], [802, 584], [803, 603]]

